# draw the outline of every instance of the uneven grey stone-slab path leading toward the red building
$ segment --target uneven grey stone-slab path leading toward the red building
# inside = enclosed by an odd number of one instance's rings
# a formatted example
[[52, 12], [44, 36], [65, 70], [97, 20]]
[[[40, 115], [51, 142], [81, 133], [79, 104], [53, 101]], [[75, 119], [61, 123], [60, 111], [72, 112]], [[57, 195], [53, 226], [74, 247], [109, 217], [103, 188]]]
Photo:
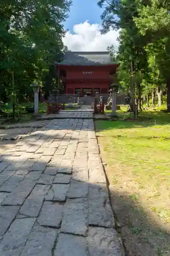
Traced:
[[1, 256], [124, 256], [93, 120], [60, 119], [0, 158]]

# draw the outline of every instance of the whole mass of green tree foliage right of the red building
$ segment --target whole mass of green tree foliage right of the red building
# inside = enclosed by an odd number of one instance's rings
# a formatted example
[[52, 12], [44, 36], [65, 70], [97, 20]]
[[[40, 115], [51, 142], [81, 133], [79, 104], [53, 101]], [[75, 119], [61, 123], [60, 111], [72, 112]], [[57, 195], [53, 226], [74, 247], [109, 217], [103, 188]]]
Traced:
[[[170, 2], [161, 0], [100, 0], [103, 33], [119, 29], [118, 79], [125, 92], [142, 95], [167, 86], [170, 111]], [[169, 96], [168, 96], [169, 95]]]

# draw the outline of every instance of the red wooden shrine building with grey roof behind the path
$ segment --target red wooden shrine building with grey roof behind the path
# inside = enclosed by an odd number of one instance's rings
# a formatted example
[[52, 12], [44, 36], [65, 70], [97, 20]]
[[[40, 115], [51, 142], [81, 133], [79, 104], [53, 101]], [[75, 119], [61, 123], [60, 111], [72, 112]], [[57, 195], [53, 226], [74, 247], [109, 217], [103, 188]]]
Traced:
[[60, 93], [93, 97], [96, 93], [108, 94], [118, 63], [111, 61], [109, 52], [68, 51], [56, 66], [63, 84]]

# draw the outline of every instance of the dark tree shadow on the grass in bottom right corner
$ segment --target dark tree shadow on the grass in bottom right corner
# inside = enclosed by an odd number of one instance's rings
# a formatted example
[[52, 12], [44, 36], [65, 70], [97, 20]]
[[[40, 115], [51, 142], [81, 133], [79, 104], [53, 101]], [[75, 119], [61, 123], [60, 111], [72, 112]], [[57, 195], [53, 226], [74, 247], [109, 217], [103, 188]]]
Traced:
[[[128, 256], [169, 256], [170, 230], [161, 226], [150, 212], [126, 193], [110, 187], [117, 231], [121, 233]], [[135, 195], [134, 195], [135, 197]]]

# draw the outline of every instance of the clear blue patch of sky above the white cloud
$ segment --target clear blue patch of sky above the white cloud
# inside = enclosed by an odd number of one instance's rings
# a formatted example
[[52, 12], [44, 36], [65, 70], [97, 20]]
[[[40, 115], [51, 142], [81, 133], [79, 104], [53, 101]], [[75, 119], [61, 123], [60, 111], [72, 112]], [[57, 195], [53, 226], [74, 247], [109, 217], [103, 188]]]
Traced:
[[100, 24], [102, 9], [98, 7], [97, 3], [98, 0], [72, 0], [65, 28], [72, 32], [74, 25], [84, 23], [85, 20], [88, 20], [90, 24]]

